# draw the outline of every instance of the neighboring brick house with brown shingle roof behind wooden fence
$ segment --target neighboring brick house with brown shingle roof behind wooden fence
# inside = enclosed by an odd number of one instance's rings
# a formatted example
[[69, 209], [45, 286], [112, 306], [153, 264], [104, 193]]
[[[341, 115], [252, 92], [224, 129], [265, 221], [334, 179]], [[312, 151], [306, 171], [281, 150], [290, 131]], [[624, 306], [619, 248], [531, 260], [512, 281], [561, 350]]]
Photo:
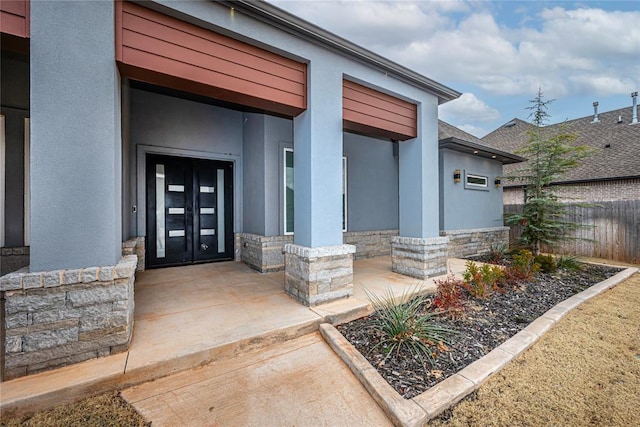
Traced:
[[[597, 106], [596, 106], [597, 107]], [[597, 110], [596, 110], [597, 111]], [[634, 123], [634, 114], [636, 122]], [[527, 141], [532, 124], [513, 119], [482, 138], [483, 143], [509, 152], [517, 152]], [[593, 154], [579, 167], [568, 171], [557, 185], [557, 195], [565, 202], [640, 200], [640, 125], [637, 110], [620, 108], [593, 116], [549, 125], [550, 131], [573, 133], [575, 144], [586, 145]], [[513, 174], [519, 165], [505, 167], [505, 175]], [[524, 203], [521, 184], [506, 181], [504, 204]]]

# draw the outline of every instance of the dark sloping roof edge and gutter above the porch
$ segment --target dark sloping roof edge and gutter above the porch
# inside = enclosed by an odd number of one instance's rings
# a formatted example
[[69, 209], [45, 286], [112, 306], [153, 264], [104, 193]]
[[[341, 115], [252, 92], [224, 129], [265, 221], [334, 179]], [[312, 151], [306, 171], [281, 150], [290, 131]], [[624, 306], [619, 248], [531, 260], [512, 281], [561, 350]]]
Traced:
[[427, 91], [435, 94], [438, 97], [438, 104], [452, 101], [462, 95], [462, 93], [457, 90], [451, 89], [448, 86], [438, 83], [435, 80], [431, 80], [430, 78], [410, 70], [409, 68], [393, 62], [381, 55], [373, 53], [368, 49], [358, 46], [349, 40], [305, 21], [304, 19], [280, 9], [279, 7], [264, 0], [217, 1], [230, 8], [241, 9], [243, 12], [262, 21], [275, 24], [275, 26], [280, 29], [296, 35], [302, 35], [307, 40], [320, 43], [338, 52], [346, 53], [361, 62], [374, 65], [385, 72], [392, 73], [405, 83], [409, 83], [421, 89], [426, 89]]

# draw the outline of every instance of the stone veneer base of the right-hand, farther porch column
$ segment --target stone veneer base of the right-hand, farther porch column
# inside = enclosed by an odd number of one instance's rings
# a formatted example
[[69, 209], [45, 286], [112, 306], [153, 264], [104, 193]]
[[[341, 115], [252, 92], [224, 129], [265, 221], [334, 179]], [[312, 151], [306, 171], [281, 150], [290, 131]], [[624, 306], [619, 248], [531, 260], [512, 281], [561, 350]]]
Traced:
[[447, 273], [448, 237], [402, 237], [391, 240], [391, 269], [424, 280]]

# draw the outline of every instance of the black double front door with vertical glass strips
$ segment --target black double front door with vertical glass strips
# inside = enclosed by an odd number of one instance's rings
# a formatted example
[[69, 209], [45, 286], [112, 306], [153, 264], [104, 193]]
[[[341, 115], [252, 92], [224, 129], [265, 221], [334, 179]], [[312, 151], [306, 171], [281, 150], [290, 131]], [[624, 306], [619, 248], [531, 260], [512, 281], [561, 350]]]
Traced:
[[233, 163], [147, 155], [147, 267], [233, 259]]

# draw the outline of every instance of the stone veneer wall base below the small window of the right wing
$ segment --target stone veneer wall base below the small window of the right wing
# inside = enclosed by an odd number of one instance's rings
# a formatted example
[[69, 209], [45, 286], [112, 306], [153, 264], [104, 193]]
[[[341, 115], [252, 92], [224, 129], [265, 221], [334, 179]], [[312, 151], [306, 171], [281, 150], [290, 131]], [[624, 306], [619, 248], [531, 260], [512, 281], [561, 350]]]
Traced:
[[509, 227], [442, 230], [440, 236], [449, 238], [449, 256], [454, 258], [486, 254], [492, 246], [509, 246]]

